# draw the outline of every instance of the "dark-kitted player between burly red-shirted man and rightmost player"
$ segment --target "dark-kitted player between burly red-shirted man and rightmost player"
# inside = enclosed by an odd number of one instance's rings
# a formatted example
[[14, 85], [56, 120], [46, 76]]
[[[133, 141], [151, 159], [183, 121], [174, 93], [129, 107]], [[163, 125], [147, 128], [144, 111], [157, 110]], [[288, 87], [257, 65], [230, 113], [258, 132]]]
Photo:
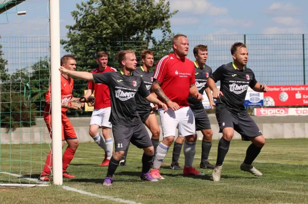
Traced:
[[[215, 103], [213, 101], [213, 98], [211, 97], [211, 91], [206, 85], [206, 81], [212, 73], [211, 68], [205, 64], [207, 60], [207, 56], [208, 56], [207, 45], [197, 45], [194, 48], [193, 52], [196, 58], [196, 61], [194, 62], [196, 86], [200, 94], [203, 94], [205, 90], [207, 98], [209, 100], [209, 104], [211, 108], [213, 109], [215, 106]], [[211, 140], [213, 137], [213, 131], [211, 130], [211, 127], [210, 127], [209, 118], [203, 107], [202, 101], [198, 101], [196, 98], [188, 96], [188, 104], [192, 110], [192, 113], [194, 113], [195, 123], [196, 123], [196, 132], [201, 131], [203, 135], [202, 146], [201, 146], [202, 153], [201, 153], [200, 168], [214, 169], [214, 165], [208, 162], [208, 155], [211, 149], [211, 145], [212, 145]], [[170, 168], [173, 170], [183, 170], [181, 166], [179, 166], [179, 157], [181, 154], [183, 142], [184, 142], [183, 137], [178, 137], [175, 141], [174, 150], [172, 152], [172, 163], [170, 165]]]

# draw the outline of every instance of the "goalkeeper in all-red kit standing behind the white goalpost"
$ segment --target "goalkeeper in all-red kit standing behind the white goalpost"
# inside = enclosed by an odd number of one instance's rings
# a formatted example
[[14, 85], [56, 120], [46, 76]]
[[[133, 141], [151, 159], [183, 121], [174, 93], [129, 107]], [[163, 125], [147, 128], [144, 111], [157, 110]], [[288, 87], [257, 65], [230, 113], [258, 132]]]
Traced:
[[[76, 69], [76, 60], [73, 55], [64, 55], [61, 58], [61, 66], [66, 67], [69, 70]], [[63, 154], [62, 165], [63, 165], [63, 177], [75, 178], [75, 176], [70, 175], [66, 172], [66, 169], [74, 157], [76, 149], [78, 147], [79, 141], [77, 139], [76, 133], [72, 124], [66, 116], [66, 111], [68, 108], [78, 109], [71, 105], [70, 101], [80, 98], [73, 98], [72, 90], [74, 87], [74, 81], [68, 75], [61, 75], [61, 106], [62, 106], [62, 148], [64, 147], [64, 141], [67, 142], [68, 146]], [[51, 85], [45, 96], [47, 105], [44, 109], [44, 120], [46, 122], [50, 137], [52, 137], [52, 125], [51, 125]], [[43, 172], [41, 173], [40, 180], [49, 181], [50, 173], [52, 169], [52, 151], [48, 153]]]

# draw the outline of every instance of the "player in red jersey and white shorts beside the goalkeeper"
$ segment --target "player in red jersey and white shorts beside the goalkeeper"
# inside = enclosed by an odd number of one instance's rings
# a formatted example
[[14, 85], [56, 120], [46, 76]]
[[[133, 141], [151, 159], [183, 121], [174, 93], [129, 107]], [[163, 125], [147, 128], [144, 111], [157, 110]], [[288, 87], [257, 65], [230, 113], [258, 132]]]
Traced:
[[[117, 69], [107, 66], [108, 54], [104, 51], [97, 53], [97, 62], [99, 67], [92, 70], [91, 73], [105, 73], [108, 71], [117, 71]], [[105, 151], [105, 159], [99, 166], [108, 166], [112, 156], [113, 141], [110, 136], [111, 123], [109, 122], [111, 112], [110, 92], [105, 84], [94, 84], [93, 81], [88, 82], [88, 91], [85, 98], [88, 98], [94, 91], [94, 110], [91, 116], [89, 134], [92, 139]], [[99, 134], [99, 128], [102, 127], [102, 134]]]

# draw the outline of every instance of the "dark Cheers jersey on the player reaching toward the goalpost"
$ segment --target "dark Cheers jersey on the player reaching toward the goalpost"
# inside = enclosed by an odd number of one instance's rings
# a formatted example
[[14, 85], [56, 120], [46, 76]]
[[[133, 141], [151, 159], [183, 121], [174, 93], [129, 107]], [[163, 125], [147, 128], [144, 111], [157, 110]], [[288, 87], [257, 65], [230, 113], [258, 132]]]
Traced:
[[137, 103], [134, 96], [138, 92], [141, 97], [150, 93], [143, 80], [138, 76], [126, 76], [123, 72], [106, 72], [93, 75], [94, 83], [106, 84], [109, 87], [111, 99], [110, 122], [126, 126], [142, 123], [137, 113]]

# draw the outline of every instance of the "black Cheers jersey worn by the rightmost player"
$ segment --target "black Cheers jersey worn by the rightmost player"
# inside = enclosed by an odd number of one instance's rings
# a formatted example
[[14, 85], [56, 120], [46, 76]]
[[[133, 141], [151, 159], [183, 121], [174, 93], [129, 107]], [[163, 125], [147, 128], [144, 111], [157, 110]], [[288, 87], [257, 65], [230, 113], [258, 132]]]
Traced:
[[218, 67], [210, 78], [215, 82], [220, 81], [220, 91], [223, 94], [217, 100], [216, 108], [245, 110], [244, 101], [248, 86], [253, 88], [257, 84], [253, 70], [247, 67], [239, 70], [230, 62]]

